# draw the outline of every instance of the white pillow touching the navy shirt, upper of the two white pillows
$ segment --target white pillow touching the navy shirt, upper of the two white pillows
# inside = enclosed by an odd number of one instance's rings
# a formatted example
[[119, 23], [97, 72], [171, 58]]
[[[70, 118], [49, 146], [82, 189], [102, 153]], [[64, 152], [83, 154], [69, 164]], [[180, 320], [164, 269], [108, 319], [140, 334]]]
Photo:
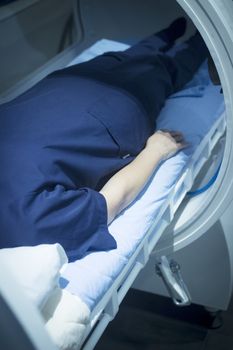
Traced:
[[58, 287], [60, 271], [67, 261], [60, 244], [0, 249], [0, 266], [4, 263], [9, 267], [26, 296], [39, 309]]

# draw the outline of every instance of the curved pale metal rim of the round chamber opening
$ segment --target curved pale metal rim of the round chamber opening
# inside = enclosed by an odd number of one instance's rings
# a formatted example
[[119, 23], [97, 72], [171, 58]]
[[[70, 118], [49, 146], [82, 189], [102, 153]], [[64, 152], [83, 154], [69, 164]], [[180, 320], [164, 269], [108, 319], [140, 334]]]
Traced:
[[[227, 135], [224, 159], [215, 186], [208, 191], [206, 202], [195, 217], [189, 218], [179, 230], [175, 231], [172, 251], [184, 248], [201, 237], [220, 218], [233, 198], [233, 164], [230, 161], [233, 147], [233, 42], [227, 27], [228, 23], [223, 23], [222, 13], [215, 6], [214, 0], [177, 0], [177, 2], [201, 33], [221, 77], [226, 105]], [[224, 4], [221, 4], [221, 7], [224, 10]], [[171, 250], [169, 243], [171, 245], [171, 242], [164, 240], [159, 251]]]

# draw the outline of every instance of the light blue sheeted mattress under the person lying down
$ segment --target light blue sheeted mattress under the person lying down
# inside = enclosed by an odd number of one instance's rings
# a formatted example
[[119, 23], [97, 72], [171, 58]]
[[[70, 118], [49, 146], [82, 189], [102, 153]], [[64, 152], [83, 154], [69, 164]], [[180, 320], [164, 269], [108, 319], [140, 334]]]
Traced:
[[[127, 47], [103, 39], [70, 65], [104, 51], [124, 50]], [[168, 201], [177, 180], [223, 112], [223, 95], [220, 88], [213, 86], [209, 80], [206, 62], [182, 91], [166, 101], [157, 119], [157, 128], [181, 131], [189, 147], [161, 163], [134, 202], [111, 223], [109, 231], [117, 242], [117, 249], [92, 252], [81, 260], [69, 263], [60, 279], [60, 286], [80, 297], [91, 311], [109, 291], [156, 218], [160, 217], [161, 208]], [[153, 234], [156, 241], [156, 230]]]

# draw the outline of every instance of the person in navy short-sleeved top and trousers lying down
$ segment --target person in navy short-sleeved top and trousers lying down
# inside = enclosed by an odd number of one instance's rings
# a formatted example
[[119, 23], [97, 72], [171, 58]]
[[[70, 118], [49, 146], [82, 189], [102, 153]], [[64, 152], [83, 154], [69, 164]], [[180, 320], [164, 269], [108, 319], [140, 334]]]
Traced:
[[186, 147], [156, 130], [166, 98], [208, 50], [186, 21], [48, 75], [0, 106], [0, 248], [60, 243], [70, 261], [116, 248], [108, 224], [158, 164]]

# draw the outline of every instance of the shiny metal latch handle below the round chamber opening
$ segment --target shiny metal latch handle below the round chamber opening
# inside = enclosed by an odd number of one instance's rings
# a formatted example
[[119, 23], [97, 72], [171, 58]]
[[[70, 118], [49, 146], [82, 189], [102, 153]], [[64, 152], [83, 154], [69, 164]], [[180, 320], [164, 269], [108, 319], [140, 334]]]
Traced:
[[178, 306], [191, 304], [191, 297], [180, 273], [180, 266], [175, 260], [168, 261], [162, 256], [155, 265], [156, 273], [163, 279], [173, 302]]

